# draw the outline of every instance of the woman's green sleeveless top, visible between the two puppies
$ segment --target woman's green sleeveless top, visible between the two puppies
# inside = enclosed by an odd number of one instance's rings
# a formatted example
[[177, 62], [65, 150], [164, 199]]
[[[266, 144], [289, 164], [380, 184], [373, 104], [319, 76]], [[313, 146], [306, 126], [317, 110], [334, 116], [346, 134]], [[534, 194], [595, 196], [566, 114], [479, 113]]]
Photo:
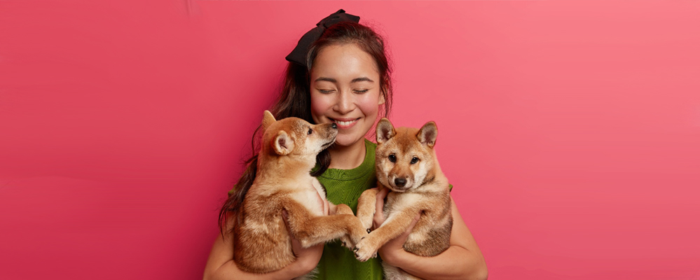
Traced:
[[[357, 214], [359, 195], [377, 184], [374, 167], [374, 151], [377, 144], [364, 139], [366, 154], [362, 165], [355, 169], [327, 169], [317, 179], [326, 188], [326, 196], [333, 204], [347, 204]], [[318, 262], [316, 279], [384, 279], [379, 258], [360, 262], [355, 253], [341, 245], [340, 241], [327, 243]]]

